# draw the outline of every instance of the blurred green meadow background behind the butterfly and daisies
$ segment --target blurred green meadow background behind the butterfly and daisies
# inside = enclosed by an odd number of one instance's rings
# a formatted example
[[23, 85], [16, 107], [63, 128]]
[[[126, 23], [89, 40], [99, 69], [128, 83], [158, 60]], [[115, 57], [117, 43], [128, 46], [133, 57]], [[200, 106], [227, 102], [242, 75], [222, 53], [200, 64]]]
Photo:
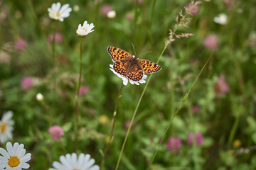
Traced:
[[[60, 1], [73, 8], [63, 22], [48, 17], [47, 9], [55, 2], [0, 2], [0, 115], [14, 112], [11, 142], [23, 143], [32, 154], [30, 169], [48, 169], [60, 155], [73, 152], [78, 24], [94, 23], [95, 31], [82, 40], [86, 90], [79, 98], [82, 127], [75, 152], [91, 154], [100, 164], [122, 85], [109, 69], [107, 46], [134, 55], [133, 43], [137, 54], [151, 51], [139, 57], [156, 62], [178, 11], [190, 1]], [[177, 33], [194, 36], [176, 39], [161, 57], [162, 69], [152, 76], [142, 98], [119, 169], [146, 169], [169, 123], [152, 169], [256, 169], [255, 8], [254, 0], [208, 0], [193, 11], [191, 24]], [[107, 17], [108, 11], [116, 16]], [[227, 17], [223, 23], [214, 21], [220, 13]], [[60, 38], [54, 58], [49, 40], [53, 33]], [[186, 105], [170, 121], [211, 52]], [[102, 169], [114, 169], [144, 86], [122, 89], [114, 140]], [[43, 101], [36, 100], [38, 93]], [[53, 125], [65, 132], [60, 142], [50, 137]], [[196, 142], [201, 142], [192, 146], [188, 136], [193, 132], [200, 134]], [[174, 138], [182, 142], [178, 150], [170, 146]]]

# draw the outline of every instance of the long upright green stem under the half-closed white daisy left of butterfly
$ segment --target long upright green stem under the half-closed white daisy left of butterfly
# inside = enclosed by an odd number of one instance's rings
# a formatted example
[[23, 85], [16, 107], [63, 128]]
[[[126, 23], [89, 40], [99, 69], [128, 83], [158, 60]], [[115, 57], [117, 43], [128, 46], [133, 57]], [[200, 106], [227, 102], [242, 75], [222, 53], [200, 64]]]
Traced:
[[75, 94], [75, 142], [73, 145], [73, 150], [75, 151], [76, 145], [78, 144], [78, 130], [79, 130], [79, 108], [78, 108], [78, 97], [79, 97], [79, 91], [81, 86], [81, 77], [82, 77], [82, 38], [80, 38], [80, 71], [79, 71], [79, 79], [78, 79], [78, 85], [77, 90]]

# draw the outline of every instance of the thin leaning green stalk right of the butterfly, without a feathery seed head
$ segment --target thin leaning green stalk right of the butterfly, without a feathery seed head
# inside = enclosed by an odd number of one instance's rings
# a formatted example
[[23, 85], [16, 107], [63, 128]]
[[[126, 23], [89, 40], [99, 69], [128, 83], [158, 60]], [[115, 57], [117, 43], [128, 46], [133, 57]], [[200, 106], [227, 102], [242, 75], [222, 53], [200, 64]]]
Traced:
[[[187, 100], [189, 94], [191, 93], [191, 90], [193, 89], [193, 86], [196, 84], [196, 81], [197, 81], [198, 78], [200, 77], [201, 73], [203, 72], [203, 69], [206, 67], [206, 65], [208, 64], [208, 62], [209, 62], [209, 60], [210, 60], [210, 58], [211, 58], [212, 56], [213, 56], [213, 52], [210, 54], [210, 57], [208, 57], [208, 60], [206, 61], [206, 64], [203, 65], [203, 68], [202, 68], [201, 71], [199, 72], [199, 74], [198, 74], [198, 76], [196, 77], [195, 81], [193, 81], [193, 84], [191, 85], [191, 88], [188, 90], [188, 92], [185, 94], [185, 96], [183, 96], [183, 98], [182, 98], [182, 100], [181, 100], [181, 103], [179, 104], [179, 106], [178, 106], [178, 108], [177, 108], [177, 110], [176, 110], [176, 113], [174, 114], [173, 118], [171, 119], [169, 125], [167, 126], [167, 128], [166, 128], [166, 130], [165, 130], [165, 132], [164, 132], [164, 136], [162, 137], [162, 140], [161, 140], [159, 146], [157, 147], [156, 152], [154, 153], [154, 156], [153, 156], [152, 159], [151, 159], [151, 162], [150, 162], [150, 164], [149, 164], [149, 168], [150, 168], [151, 164], [153, 163], [154, 158], [156, 157], [156, 154], [157, 154], [157, 152], [159, 151], [159, 148], [161, 147], [162, 142], [164, 141], [164, 137], [166, 136], [166, 133], [168, 132], [168, 130], [169, 130], [170, 126], [171, 126], [172, 121], [174, 120], [176, 114], [181, 110], [181, 108], [183, 108], [183, 106], [184, 106], [184, 104], [185, 104], [185, 102], [186, 102], [186, 100]], [[148, 169], [149, 169], [149, 168], [148, 168]]]

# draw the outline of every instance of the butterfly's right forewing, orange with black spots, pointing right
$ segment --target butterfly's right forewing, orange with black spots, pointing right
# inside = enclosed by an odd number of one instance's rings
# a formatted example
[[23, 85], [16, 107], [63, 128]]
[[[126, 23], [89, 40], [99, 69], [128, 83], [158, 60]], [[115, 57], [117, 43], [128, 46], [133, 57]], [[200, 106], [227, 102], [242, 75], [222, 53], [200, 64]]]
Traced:
[[161, 70], [161, 67], [159, 66], [159, 64], [156, 64], [149, 60], [139, 59], [139, 64], [141, 64], [143, 72], [145, 74], [159, 72]]

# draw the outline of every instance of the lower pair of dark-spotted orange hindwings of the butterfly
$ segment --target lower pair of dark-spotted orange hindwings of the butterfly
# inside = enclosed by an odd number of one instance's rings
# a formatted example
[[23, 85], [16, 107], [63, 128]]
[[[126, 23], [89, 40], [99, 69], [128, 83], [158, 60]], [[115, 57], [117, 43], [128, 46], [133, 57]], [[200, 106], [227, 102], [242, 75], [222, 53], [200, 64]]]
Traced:
[[142, 68], [139, 64], [130, 65], [129, 60], [119, 60], [114, 62], [113, 69], [119, 74], [122, 74], [124, 77], [128, 77], [133, 81], [139, 81], [143, 77]]

